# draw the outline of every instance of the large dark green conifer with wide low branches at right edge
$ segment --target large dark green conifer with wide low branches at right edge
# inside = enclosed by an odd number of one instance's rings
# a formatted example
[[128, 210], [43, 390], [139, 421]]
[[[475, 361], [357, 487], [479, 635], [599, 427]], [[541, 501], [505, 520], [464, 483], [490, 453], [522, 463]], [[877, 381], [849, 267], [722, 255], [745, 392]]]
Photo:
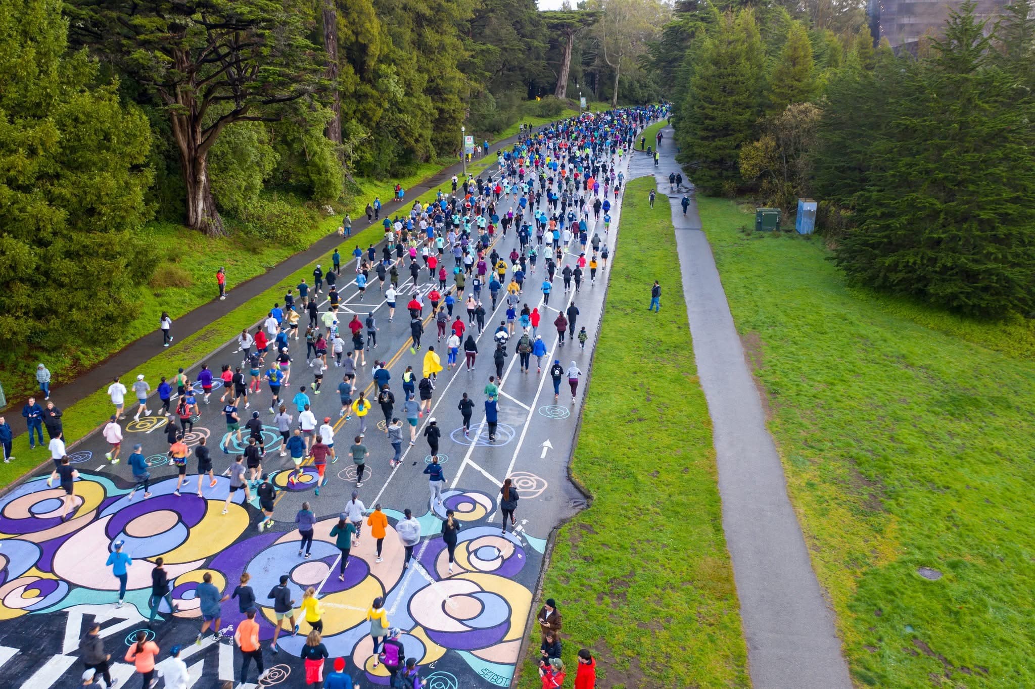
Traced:
[[904, 88], [870, 132], [858, 227], [835, 260], [859, 282], [963, 312], [1030, 313], [1035, 108], [989, 48], [967, 2], [929, 60], [896, 61]]

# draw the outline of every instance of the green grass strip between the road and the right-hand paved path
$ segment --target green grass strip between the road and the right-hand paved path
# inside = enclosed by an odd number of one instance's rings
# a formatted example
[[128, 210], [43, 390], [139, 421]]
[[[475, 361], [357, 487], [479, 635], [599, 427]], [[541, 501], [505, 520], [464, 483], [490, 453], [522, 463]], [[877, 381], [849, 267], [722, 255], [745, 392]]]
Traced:
[[[592, 495], [559, 532], [543, 581], [564, 616], [563, 659], [598, 660], [598, 686], [747, 687], [722, 534], [711, 421], [686, 311], [647, 310], [655, 278], [680, 290], [669, 208], [629, 184], [573, 477]], [[539, 687], [532, 656], [519, 687]]]

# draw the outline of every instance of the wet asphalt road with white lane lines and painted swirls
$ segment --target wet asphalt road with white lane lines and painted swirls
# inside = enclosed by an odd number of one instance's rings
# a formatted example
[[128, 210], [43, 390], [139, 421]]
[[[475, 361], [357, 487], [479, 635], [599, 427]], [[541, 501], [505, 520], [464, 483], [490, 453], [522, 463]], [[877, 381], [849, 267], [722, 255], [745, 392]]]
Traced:
[[[503, 203], [502, 207], [505, 209], [506, 205]], [[605, 239], [612, 247], [620, 215], [619, 201], [612, 211], [611, 236]], [[599, 234], [604, 237], [602, 221]], [[504, 256], [514, 245], [513, 234], [498, 239], [496, 244]], [[342, 246], [343, 267], [350, 263], [347, 257], [351, 248], [348, 243]], [[566, 260], [573, 262], [576, 257], [578, 249]], [[452, 266], [448, 258], [447, 265]], [[558, 273], [562, 267], [558, 267]], [[521, 303], [539, 306], [542, 310], [538, 286], [543, 273], [540, 259], [535, 274], [526, 282]], [[328, 465], [329, 483], [319, 497], [315, 495], [317, 481], [312, 466], [303, 467], [305, 476], [301, 481], [289, 482], [293, 463], [290, 457], [279, 456], [280, 438], [268, 411], [270, 393], [263, 385], [262, 392], [252, 399], [252, 408], [241, 410], [242, 423], [253, 411], [258, 411], [266, 424], [263, 470], [284, 488], [277, 497], [275, 523], [263, 533], [258, 530], [260, 512], [255, 504], [245, 503], [242, 491], [232, 498], [229, 513], [221, 513], [229, 492], [229, 479], [220, 473], [232, 461], [231, 454], [219, 450], [226, 432], [218, 401], [223, 390], [216, 389], [210, 403], [202, 405], [201, 417], [187, 438], [191, 449], [202, 436], [208, 439], [212, 448], [217, 483], [209, 487], [205, 480], [204, 498], [196, 495], [198, 476], [193, 454], [182, 496], [172, 495], [176, 470], [166, 457], [169, 445], [165, 418], [153, 415], [134, 422], [131, 408], [127, 408], [126, 420], [122, 422], [121, 456], [123, 459], [128, 456], [135, 443], [143, 445], [143, 453], [151, 466], [151, 498], [145, 500], [138, 492], [132, 501], [128, 499], [132, 483], [130, 470], [125, 461], [112, 466], [105, 460], [108, 447], [99, 435], [78, 445], [72, 454], [80, 480], [76, 485], [78, 509], [69, 521], [60, 521], [58, 499], [61, 492], [47, 487], [43, 474], [0, 498], [0, 537], [5, 539], [0, 541], [0, 558], [5, 565], [0, 581], [0, 672], [7, 678], [3, 684], [32, 689], [78, 686], [76, 680], [83, 669], [78, 660], [78, 639], [85, 633], [87, 624], [94, 620], [102, 625], [106, 651], [112, 655], [113, 663], [118, 661], [113, 675], [123, 682], [129, 680], [130, 686], [139, 682], [130, 680], [132, 668], [121, 661], [131, 634], [145, 627], [152, 562], [162, 557], [173, 598], [180, 611], [170, 615], [165, 605], [159, 606], [160, 620], [155, 623], [154, 640], [161, 649], [159, 658], [166, 658], [172, 646], [184, 645], [181, 657], [191, 670], [194, 686], [218, 686], [220, 682], [235, 679], [240, 662], [239, 652], [229, 643], [216, 642], [211, 637], [206, 637], [200, 646], [194, 643], [200, 622], [199, 602], [194, 594], [196, 582], [204, 573], [211, 573], [218, 588], [229, 594], [244, 571], [252, 575], [250, 585], [263, 606], [260, 617], [264, 641], [270, 639], [273, 631], [272, 609], [267, 607], [271, 601], [266, 594], [276, 578], [280, 574], [291, 576], [291, 588], [298, 601], [303, 588], [314, 587], [324, 609], [324, 643], [331, 658], [347, 659], [350, 673], [356, 680], [361, 679], [362, 686], [387, 684], [383, 668], [374, 666], [365, 621], [366, 608], [376, 596], [385, 597], [389, 622], [402, 630], [407, 655], [417, 658], [425, 667], [432, 679], [428, 686], [440, 689], [508, 686], [532, 611], [546, 538], [559, 522], [579, 509], [578, 501], [582, 499], [567, 479], [567, 463], [584, 392], [591, 378], [589, 362], [609, 273], [607, 269], [601, 270], [596, 284], [584, 282], [578, 294], [573, 291], [565, 294], [560, 275], [557, 275], [551, 303], [539, 328], [549, 350], [541, 373], [535, 370], [534, 358], [531, 372], [521, 372], [514, 354], [516, 336], [507, 344], [509, 356], [501, 388], [500, 426], [495, 444], [487, 443], [484, 429], [482, 389], [489, 376], [495, 373], [491, 338], [495, 330], [493, 324], [498, 325], [504, 318], [503, 299], [486, 318], [485, 331], [477, 336], [480, 354], [475, 368], [467, 371], [459, 366], [439, 373], [431, 415], [420, 419], [419, 431], [423, 431], [430, 417], [435, 417], [442, 429], [440, 458], [448, 486], [443, 492], [442, 506], [431, 503], [427, 477], [422, 473], [430, 461], [427, 444], [419, 435], [416, 445], [404, 443], [402, 463], [390, 468], [388, 458], [392, 450], [377, 425], [379, 420], [383, 423], [384, 417], [380, 408], [374, 407], [363, 439], [372, 454], [366, 462], [367, 475], [358, 492], [367, 510], [376, 503], [383, 506], [390, 526], [382, 563], [376, 562], [374, 540], [366, 527], [363, 528], [362, 537], [348, 558], [344, 582], [336, 576], [341, 553], [334, 547], [329, 530], [355, 487], [355, 466], [348, 447], [358, 432], [359, 423], [355, 417], [348, 421], [338, 418], [341, 405], [335, 393], [342, 380], [341, 369], [330, 365], [325, 371], [323, 390], [313, 394], [315, 368], [305, 364], [304, 337], [291, 342], [294, 361], [290, 386], [286, 386], [282, 398], [290, 400], [299, 386], [306, 386], [317, 418], [322, 421], [330, 417], [334, 424], [334, 448], [341, 458]], [[405, 271], [401, 274], [409, 276]], [[407, 280], [401, 284], [401, 292], [405, 295], [418, 290], [426, 294], [432, 287], [426, 276], [427, 271], [422, 271], [416, 287], [412, 280]], [[388, 361], [390, 385], [397, 400], [395, 413], [403, 418], [405, 415], [400, 413], [402, 372], [407, 365], [413, 365], [419, 373], [428, 346], [441, 353], [445, 366], [445, 341], [436, 341], [435, 325], [427, 323], [424, 349], [411, 353], [409, 318], [405, 309], [409, 296], [401, 295], [395, 319], [389, 323], [376, 277], [362, 300], [354, 283], [345, 289], [338, 287], [343, 295], [344, 321], [351, 318], [349, 311], [359, 313], [362, 319], [373, 310], [380, 327], [378, 346], [365, 354], [366, 365], [358, 367], [357, 391], [365, 389], [373, 397], [373, 361]], [[470, 290], [469, 281], [468, 293]], [[326, 295], [320, 297], [323, 300]], [[487, 289], [482, 293], [482, 300], [489, 310]], [[585, 325], [590, 335], [585, 351], [576, 343], [569, 341], [560, 346], [557, 341], [557, 331], [552, 325], [557, 313], [555, 308], [566, 307], [569, 303], [580, 309], [578, 327]], [[326, 308], [323, 303], [321, 309]], [[454, 312], [462, 313], [466, 323], [466, 311], [462, 307], [457, 305]], [[423, 314], [427, 320], [426, 305]], [[303, 316], [302, 330], [306, 320]], [[346, 339], [349, 338], [346, 336]], [[566, 381], [562, 383], [560, 399], [554, 399], [546, 362], [555, 358], [559, 358], [565, 368], [574, 361], [585, 373], [573, 402], [567, 393]], [[214, 371], [225, 363], [234, 366], [241, 363], [236, 341], [227, 343], [208, 359]], [[174, 373], [169, 371], [170, 380]], [[197, 370], [187, 373], [193, 379], [197, 377]], [[149, 383], [156, 387], [158, 382]], [[464, 437], [456, 409], [464, 392], [476, 402], [473, 440]], [[132, 401], [132, 396], [130, 391], [128, 402]], [[158, 406], [152, 395], [150, 409], [157, 410]], [[297, 413], [295, 419], [297, 421]], [[241, 451], [236, 441], [232, 441], [231, 446], [231, 452]], [[498, 498], [506, 477], [514, 480], [522, 500], [516, 511], [516, 528], [508, 529], [504, 535], [500, 531]], [[295, 515], [303, 501], [309, 502], [318, 518], [316, 543], [309, 560], [297, 555]], [[413, 510], [422, 533], [414, 553], [419, 564], [408, 569], [403, 569], [403, 547], [394, 532], [394, 525], [402, 518], [405, 508]], [[441, 518], [446, 508], [455, 511], [464, 527], [453, 572], [447, 569], [440, 536]], [[119, 539], [126, 541], [125, 549], [135, 561], [129, 568], [126, 604], [116, 608], [118, 582], [105, 562], [111, 544]], [[224, 603], [223, 611], [224, 628], [236, 625], [243, 617], [236, 600]], [[282, 636], [283, 650], [276, 655], [269, 651], [270, 645], [265, 643], [266, 665], [275, 665], [276, 672], [264, 686], [301, 685], [303, 670], [298, 653], [306, 631], [308, 626], [302, 623], [299, 636]], [[159, 669], [161, 667], [159, 665]], [[253, 669], [253, 683], [255, 677]]]

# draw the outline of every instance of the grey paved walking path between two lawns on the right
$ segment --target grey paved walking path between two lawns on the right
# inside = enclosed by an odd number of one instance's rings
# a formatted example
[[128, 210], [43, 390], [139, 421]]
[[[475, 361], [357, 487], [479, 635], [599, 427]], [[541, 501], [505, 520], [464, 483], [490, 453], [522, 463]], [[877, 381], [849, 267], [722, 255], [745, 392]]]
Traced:
[[[630, 169], [630, 177], [654, 174], [659, 194], [668, 192], [669, 173], [680, 172], [672, 127], [663, 131], [660, 166], [644, 170], [649, 163], [640, 161]], [[714, 428], [722, 528], [751, 681], [756, 689], [850, 689], [833, 613], [791, 507], [697, 205], [691, 198], [684, 215], [681, 199], [669, 197], [698, 373]], [[678, 308], [676, 297], [671, 288], [663, 292], [662, 308]]]

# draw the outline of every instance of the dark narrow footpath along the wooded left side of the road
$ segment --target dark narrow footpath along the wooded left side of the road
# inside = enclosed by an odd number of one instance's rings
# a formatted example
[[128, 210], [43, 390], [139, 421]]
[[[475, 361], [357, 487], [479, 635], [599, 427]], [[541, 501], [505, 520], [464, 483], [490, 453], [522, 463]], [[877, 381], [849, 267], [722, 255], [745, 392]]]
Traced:
[[[538, 127], [536, 127], [538, 128]], [[486, 155], [494, 156], [495, 153], [500, 149], [508, 148], [515, 141], [518, 141], [518, 134], [513, 137], [508, 137], [503, 139], [493, 146], [490, 147], [489, 153]], [[478, 162], [482, 160], [484, 156], [475, 158], [472, 162]], [[491, 166], [492, 167], [492, 166]], [[404, 208], [410, 208], [413, 205], [413, 200], [418, 198], [425, 191], [435, 189], [439, 186], [447, 184], [449, 179], [456, 175], [460, 177], [464, 171], [464, 163], [457, 161], [456, 163], [444, 168], [437, 172], [432, 177], [427, 178], [420, 184], [417, 184], [406, 190], [408, 199], [398, 203], [397, 201], [389, 200], [387, 202], [383, 201], [383, 206], [381, 208], [381, 218], [375, 220], [374, 222], [366, 221], [366, 215], [360, 214], [358, 218], [353, 218], [352, 231], [355, 235], [356, 233], [365, 230], [372, 224], [378, 224], [385, 217], [391, 217], [394, 213], [403, 210]], [[392, 184], [391, 182], [385, 182], [386, 197], [390, 199]], [[373, 200], [371, 200], [373, 201]], [[345, 217], [343, 214], [341, 217]], [[253, 297], [262, 294], [266, 290], [276, 286], [278, 282], [284, 280], [288, 275], [291, 275], [297, 270], [304, 268], [310, 264], [315, 264], [319, 259], [323, 258], [325, 254], [330, 253], [335, 247], [348, 244], [349, 238], [341, 239], [336, 233], [332, 233], [324, 237], [323, 239], [315, 242], [309, 248], [304, 251], [299, 251], [295, 253], [276, 266], [270, 268], [265, 273], [261, 275], [256, 275], [249, 280], [244, 282], [235, 282], [234, 276], [231, 274], [228, 279], [228, 293], [225, 300], [218, 299], [218, 289], [215, 284], [215, 271], [218, 268], [216, 265], [212, 265], [212, 300], [202, 304], [198, 308], [188, 311], [176, 319], [176, 332], [181, 333], [181, 336], [185, 336], [186, 333], [195, 333], [201, 330], [209, 323], [223, 318], [227, 313], [231, 312], [238, 306], [241, 306]], [[375, 245], [380, 247], [382, 240], [379, 239], [375, 242]], [[365, 248], [365, 247], [364, 247]], [[343, 258], [347, 258], [346, 252], [343, 251]], [[349, 259], [351, 260], [351, 259]], [[247, 324], [250, 326], [252, 324]], [[242, 325], [243, 327], [243, 325]], [[179, 337], [177, 338], [177, 340]], [[68, 381], [60, 385], [53, 385], [51, 387], [52, 395], [59, 394], [61, 400], [62, 409], [70, 407], [71, 405], [80, 401], [81, 399], [93, 394], [100, 388], [106, 388], [112, 382], [112, 379], [116, 376], [124, 376], [126, 372], [132, 370], [137, 366], [145, 363], [152, 357], [156, 356], [162, 352], [160, 346], [156, 346], [155, 342], [158, 341], [158, 331], [155, 328], [154, 332], [148, 333], [143, 337], [126, 344], [124, 348], [108, 357], [100, 363], [96, 364], [90, 370], [80, 373], [73, 381]], [[221, 343], [220, 343], [221, 344]], [[174, 344], [175, 346], [175, 344]], [[213, 344], [213, 350], [218, 349], [218, 344]], [[183, 365], [186, 366], [194, 362], [185, 361]], [[11, 410], [14, 410], [16, 405], [21, 405], [24, 400], [21, 399], [8, 399], [11, 405]]]

